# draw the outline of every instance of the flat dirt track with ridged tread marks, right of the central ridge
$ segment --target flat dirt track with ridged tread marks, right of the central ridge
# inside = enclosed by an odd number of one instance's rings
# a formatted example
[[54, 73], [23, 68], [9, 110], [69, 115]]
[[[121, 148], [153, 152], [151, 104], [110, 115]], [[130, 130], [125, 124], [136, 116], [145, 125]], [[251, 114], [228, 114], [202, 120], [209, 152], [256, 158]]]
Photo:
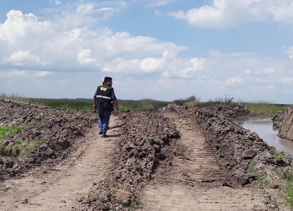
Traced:
[[140, 211], [257, 211], [266, 208], [264, 196], [256, 189], [223, 186], [221, 169], [205, 143], [204, 134], [191, 119], [181, 119], [176, 113], [165, 112], [164, 115], [181, 135], [174, 146], [177, 156], [174, 156], [171, 170], [157, 169], [155, 179], [141, 194], [143, 208]]

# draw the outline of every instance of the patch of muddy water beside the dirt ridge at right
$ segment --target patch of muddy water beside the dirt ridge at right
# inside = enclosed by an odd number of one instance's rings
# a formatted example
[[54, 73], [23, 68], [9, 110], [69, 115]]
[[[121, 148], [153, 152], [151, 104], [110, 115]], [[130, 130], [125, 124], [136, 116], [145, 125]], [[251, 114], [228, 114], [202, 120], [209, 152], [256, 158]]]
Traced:
[[256, 132], [269, 146], [275, 147], [278, 151], [284, 151], [286, 155], [293, 157], [293, 141], [278, 137], [278, 129], [272, 127], [270, 117], [239, 117], [232, 121]]

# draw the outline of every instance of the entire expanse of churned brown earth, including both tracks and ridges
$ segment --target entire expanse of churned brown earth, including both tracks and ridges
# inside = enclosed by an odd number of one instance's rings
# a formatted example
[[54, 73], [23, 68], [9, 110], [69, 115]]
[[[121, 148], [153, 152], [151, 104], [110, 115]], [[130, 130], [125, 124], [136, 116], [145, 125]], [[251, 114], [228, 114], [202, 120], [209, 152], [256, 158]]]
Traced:
[[0, 110], [0, 126], [24, 126], [2, 148], [42, 141], [22, 157], [1, 151], [1, 211], [292, 210], [276, 173], [291, 161], [231, 121], [253, 115], [239, 105], [113, 112], [108, 138], [94, 111]]

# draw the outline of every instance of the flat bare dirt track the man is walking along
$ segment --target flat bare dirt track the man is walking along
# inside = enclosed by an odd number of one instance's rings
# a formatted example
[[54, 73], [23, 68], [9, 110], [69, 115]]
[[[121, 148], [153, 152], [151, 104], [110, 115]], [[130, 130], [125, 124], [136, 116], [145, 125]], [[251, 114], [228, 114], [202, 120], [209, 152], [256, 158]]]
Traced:
[[40, 167], [20, 179], [0, 183], [0, 211], [68, 211], [105, 177], [113, 140], [119, 136], [118, 118], [111, 116], [108, 138], [97, 125], [77, 141], [76, 150], [54, 167]]

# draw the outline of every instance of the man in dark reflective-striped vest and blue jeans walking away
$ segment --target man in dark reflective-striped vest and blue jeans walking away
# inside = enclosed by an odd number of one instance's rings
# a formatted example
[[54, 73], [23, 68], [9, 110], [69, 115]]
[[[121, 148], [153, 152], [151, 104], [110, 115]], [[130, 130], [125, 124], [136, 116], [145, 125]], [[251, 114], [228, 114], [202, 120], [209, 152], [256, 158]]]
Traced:
[[119, 110], [119, 104], [112, 88], [112, 78], [105, 77], [104, 84], [99, 85], [94, 94], [94, 109], [98, 109], [99, 112], [99, 134], [103, 134], [102, 137], [108, 137], [106, 135], [109, 126], [109, 120], [111, 112], [114, 111], [114, 105]]

